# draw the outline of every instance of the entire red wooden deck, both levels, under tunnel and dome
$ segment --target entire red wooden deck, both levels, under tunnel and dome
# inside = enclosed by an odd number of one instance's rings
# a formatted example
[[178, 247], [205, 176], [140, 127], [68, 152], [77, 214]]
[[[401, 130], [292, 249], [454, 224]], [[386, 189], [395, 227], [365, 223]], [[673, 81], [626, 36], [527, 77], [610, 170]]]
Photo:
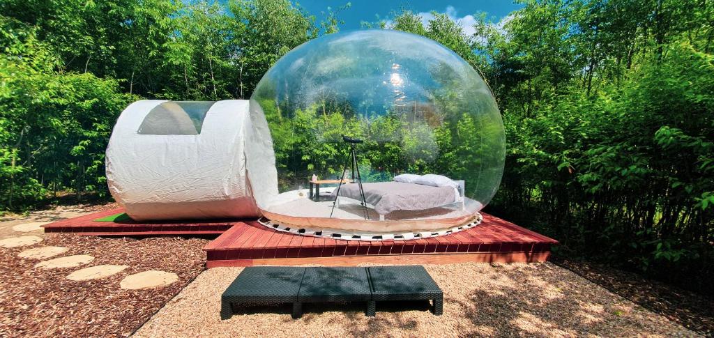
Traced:
[[204, 222], [97, 222], [124, 212], [105, 210], [44, 225], [45, 232], [77, 235], [219, 235], [209, 242], [206, 266], [429, 264], [446, 262], [544, 262], [558, 242], [483, 214], [476, 227], [416, 240], [347, 241], [279, 232], [255, 220]]

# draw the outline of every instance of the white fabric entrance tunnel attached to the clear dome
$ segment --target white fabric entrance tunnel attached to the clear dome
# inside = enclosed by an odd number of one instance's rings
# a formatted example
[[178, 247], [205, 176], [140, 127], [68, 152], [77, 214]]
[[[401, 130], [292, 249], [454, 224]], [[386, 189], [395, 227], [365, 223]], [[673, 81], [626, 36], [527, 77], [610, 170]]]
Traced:
[[[258, 158], [268, 150], [251, 145], [246, 130], [246, 100], [132, 103], [106, 149], [109, 191], [134, 220], [256, 217], [245, 150]], [[277, 175], [260, 178], [253, 187], [277, 190]]]

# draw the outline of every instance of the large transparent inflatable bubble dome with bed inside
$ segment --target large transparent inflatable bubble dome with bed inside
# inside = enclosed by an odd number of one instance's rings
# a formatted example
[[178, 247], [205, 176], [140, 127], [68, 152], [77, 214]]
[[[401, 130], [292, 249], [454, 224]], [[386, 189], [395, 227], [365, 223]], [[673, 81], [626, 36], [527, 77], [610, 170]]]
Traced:
[[480, 217], [503, 174], [503, 121], [483, 78], [400, 31], [303, 43], [258, 83], [250, 121], [253, 197], [287, 227], [458, 227]]

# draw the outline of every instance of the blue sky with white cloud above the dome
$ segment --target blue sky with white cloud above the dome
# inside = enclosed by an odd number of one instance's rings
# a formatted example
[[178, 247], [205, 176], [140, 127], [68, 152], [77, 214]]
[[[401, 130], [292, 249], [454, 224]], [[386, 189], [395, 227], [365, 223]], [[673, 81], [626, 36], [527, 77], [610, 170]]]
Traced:
[[[319, 20], [323, 17], [321, 12], [327, 11], [328, 7], [337, 9], [346, 4], [348, 0], [302, 0], [293, 2], [300, 4], [303, 9], [315, 15]], [[421, 13], [425, 19], [428, 19], [428, 13], [431, 11], [446, 13], [452, 19], [460, 20], [465, 33], [468, 34], [470, 23], [473, 22], [473, 14], [478, 11], [486, 12], [488, 16], [493, 16], [498, 21], [511, 13], [511, 11], [523, 7], [508, 0], [352, 0], [349, 2], [352, 4], [351, 8], [342, 11], [339, 15], [340, 19], [345, 21], [345, 24], [341, 27], [342, 30], [359, 29], [361, 21], [373, 22], [378, 21], [378, 19], [391, 19], [393, 11], [405, 7], [415, 13]]]

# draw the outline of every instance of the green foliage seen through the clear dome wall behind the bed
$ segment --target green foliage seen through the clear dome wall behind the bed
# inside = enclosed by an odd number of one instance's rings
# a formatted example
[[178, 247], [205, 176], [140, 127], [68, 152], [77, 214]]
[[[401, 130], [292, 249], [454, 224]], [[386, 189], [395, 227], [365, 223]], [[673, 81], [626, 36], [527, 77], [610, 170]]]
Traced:
[[[432, 131], [396, 114], [366, 123], [339, 110], [323, 112], [321, 106], [298, 109], [293, 118], [271, 109], [273, 101], [261, 106], [266, 107], [263, 112], [271, 126], [281, 191], [304, 185], [313, 173], [321, 178], [339, 177], [348, 158], [341, 135], [365, 139], [359, 167], [367, 181], [391, 180], [399, 173], [444, 173], [477, 182], [471, 168], [488, 151], [472, 137], [483, 131], [466, 113], [456, 123], [444, 123]], [[425, 142], [433, 139], [431, 133], [436, 134], [436, 144]], [[476, 190], [476, 186], [471, 188]]]

